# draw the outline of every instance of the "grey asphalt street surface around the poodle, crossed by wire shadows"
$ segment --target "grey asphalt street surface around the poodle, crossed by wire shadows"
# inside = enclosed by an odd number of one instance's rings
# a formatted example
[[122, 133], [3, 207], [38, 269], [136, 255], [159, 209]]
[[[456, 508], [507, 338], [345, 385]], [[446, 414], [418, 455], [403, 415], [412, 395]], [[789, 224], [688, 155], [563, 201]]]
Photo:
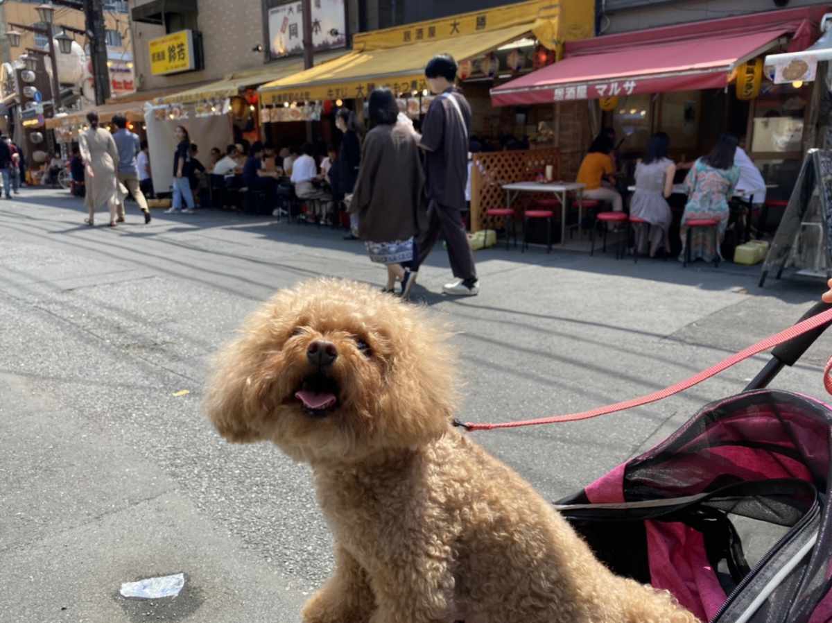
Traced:
[[[379, 285], [343, 232], [135, 204], [116, 229], [66, 192], [0, 200], [0, 621], [295, 623], [328, 576], [310, 473], [230, 445], [200, 412], [206, 360], [275, 290], [320, 275]], [[605, 405], [681, 380], [789, 326], [819, 281], [756, 287], [759, 267], [504, 247], [477, 253], [479, 297], [440, 294], [441, 247], [416, 304], [457, 331], [465, 421]], [[823, 397], [822, 338], [774, 385]], [[682, 396], [572, 424], [472, 433], [548, 499], [577, 491], [741, 391], [765, 356]], [[122, 582], [183, 572], [176, 599]]]

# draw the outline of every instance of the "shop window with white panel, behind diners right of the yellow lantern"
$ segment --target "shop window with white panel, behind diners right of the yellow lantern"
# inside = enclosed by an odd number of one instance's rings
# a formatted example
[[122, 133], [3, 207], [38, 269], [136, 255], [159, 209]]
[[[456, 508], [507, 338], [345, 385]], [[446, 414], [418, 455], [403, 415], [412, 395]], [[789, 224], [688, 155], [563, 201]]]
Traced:
[[774, 87], [754, 104], [751, 152], [800, 153], [810, 87], [795, 89], [791, 85]]

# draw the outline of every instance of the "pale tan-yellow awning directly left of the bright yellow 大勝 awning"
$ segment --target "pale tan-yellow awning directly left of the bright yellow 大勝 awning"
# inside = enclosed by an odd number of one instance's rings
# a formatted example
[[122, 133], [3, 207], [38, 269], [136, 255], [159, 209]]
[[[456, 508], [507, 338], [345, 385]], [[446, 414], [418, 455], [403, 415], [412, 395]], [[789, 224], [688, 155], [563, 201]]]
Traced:
[[[344, 50], [339, 50], [337, 52], [315, 54], [315, 59], [319, 62], [327, 62], [343, 55]], [[246, 87], [256, 87], [264, 82], [272, 82], [282, 77], [288, 77], [292, 74], [302, 72], [303, 70], [304, 61], [302, 57], [285, 58], [271, 62], [265, 67], [230, 74], [230, 76], [222, 80], [208, 82], [200, 87], [171, 93], [165, 97], [157, 97], [152, 103], [156, 105], [191, 104], [209, 99], [225, 99], [225, 97], [238, 95], [240, 90]]]

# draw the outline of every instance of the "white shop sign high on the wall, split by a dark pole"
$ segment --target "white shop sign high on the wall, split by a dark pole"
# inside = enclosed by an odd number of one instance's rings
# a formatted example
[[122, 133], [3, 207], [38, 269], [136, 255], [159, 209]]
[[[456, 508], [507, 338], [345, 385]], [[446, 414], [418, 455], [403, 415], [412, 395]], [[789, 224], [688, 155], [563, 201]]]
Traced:
[[[347, 45], [344, 0], [312, 0], [312, 44], [315, 52]], [[269, 9], [269, 42], [272, 57], [304, 52], [303, 2], [289, 2]]]

